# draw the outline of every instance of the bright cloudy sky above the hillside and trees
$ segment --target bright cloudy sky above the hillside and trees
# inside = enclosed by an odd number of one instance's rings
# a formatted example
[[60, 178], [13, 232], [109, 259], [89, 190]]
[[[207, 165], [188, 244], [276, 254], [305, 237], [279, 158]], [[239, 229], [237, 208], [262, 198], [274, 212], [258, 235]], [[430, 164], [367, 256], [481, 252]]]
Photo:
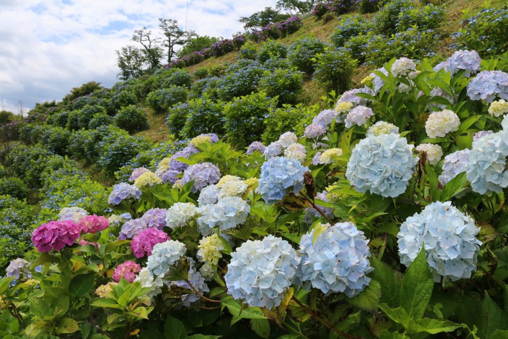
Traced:
[[[277, 0], [190, 0], [187, 29], [230, 38], [238, 19]], [[88, 81], [117, 82], [115, 50], [135, 44], [143, 26], [158, 33], [158, 18], [183, 29], [187, 0], [0, 0], [0, 109], [17, 112], [61, 100]]]

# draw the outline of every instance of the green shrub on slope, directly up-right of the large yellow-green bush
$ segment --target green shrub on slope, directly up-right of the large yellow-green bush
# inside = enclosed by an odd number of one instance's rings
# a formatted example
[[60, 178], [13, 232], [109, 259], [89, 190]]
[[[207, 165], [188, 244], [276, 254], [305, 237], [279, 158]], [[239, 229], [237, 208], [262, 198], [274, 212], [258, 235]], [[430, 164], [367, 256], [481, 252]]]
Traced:
[[302, 91], [303, 73], [291, 69], [265, 71], [260, 90], [270, 98], [278, 96], [279, 104], [295, 104]]

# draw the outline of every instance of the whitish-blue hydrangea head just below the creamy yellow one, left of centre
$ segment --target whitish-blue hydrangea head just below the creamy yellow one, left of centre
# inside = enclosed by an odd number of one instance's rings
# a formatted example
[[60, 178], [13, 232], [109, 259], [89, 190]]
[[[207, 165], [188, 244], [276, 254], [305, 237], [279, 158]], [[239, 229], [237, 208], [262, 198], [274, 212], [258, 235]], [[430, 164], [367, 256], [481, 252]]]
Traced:
[[214, 205], [200, 207], [198, 212], [201, 214], [197, 219], [198, 231], [208, 236], [216, 226], [226, 230], [244, 223], [250, 213], [250, 205], [239, 197], [225, 197]]

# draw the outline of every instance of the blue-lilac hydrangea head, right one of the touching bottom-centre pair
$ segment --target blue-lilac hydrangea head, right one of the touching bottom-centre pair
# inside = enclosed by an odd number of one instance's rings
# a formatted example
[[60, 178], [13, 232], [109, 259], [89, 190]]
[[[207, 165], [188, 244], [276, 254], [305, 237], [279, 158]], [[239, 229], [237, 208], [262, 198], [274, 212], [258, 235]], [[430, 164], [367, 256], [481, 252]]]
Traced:
[[300, 240], [301, 264], [296, 276], [305, 289], [311, 286], [325, 295], [342, 292], [354, 297], [370, 283], [366, 275], [370, 267], [369, 240], [353, 223], [338, 223], [328, 226], [317, 236], [314, 244], [314, 229]]

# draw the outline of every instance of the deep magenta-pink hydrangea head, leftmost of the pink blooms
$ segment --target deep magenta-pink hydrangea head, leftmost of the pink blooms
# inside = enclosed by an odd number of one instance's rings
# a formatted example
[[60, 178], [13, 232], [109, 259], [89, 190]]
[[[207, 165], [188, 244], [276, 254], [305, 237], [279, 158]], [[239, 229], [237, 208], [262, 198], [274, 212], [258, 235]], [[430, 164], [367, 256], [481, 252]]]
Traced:
[[73, 221], [50, 221], [34, 231], [31, 241], [41, 253], [60, 251], [66, 245], [72, 245], [79, 235], [80, 228]]

